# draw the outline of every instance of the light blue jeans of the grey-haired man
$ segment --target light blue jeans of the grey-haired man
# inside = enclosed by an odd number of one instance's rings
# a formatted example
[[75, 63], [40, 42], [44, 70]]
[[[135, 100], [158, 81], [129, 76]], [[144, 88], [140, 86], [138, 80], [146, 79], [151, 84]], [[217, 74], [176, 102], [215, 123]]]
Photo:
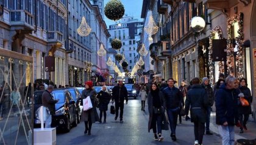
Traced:
[[223, 145], [233, 145], [235, 143], [235, 126], [218, 126], [218, 129]]

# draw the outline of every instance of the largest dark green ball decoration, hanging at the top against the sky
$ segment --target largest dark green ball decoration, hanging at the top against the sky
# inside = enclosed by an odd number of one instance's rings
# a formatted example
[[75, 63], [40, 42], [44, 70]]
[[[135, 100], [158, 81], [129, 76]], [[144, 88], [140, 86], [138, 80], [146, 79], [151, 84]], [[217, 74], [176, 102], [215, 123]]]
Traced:
[[124, 5], [119, 0], [110, 0], [105, 5], [104, 13], [108, 19], [117, 21], [118, 19], [121, 19], [124, 16]]

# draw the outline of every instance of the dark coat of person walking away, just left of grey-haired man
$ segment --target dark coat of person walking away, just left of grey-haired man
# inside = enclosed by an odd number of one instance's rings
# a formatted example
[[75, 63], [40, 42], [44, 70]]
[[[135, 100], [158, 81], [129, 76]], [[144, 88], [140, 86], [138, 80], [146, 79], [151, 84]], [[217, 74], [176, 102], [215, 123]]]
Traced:
[[207, 106], [207, 92], [200, 84], [193, 85], [188, 91], [185, 101], [185, 112], [188, 114], [188, 110], [190, 109], [191, 122], [205, 123]]

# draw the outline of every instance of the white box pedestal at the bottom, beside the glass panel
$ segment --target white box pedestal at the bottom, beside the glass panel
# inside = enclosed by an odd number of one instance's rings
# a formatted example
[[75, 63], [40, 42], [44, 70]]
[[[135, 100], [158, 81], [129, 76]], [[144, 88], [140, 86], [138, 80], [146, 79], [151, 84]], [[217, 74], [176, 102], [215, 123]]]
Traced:
[[34, 145], [55, 145], [56, 128], [34, 129]]

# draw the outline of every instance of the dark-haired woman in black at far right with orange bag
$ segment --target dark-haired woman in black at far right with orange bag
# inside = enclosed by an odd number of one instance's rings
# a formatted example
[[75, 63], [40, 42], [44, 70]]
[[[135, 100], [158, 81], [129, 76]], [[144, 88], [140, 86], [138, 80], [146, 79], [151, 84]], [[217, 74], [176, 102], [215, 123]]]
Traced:
[[242, 125], [240, 127], [240, 133], [243, 133], [244, 130], [247, 130], [246, 123], [249, 119], [249, 115], [252, 113], [252, 109], [251, 109], [252, 95], [251, 95], [251, 90], [247, 87], [247, 81], [245, 78], [240, 79], [239, 89], [241, 90], [241, 93], [243, 93], [243, 95], [241, 96], [242, 99], [246, 99], [244, 101], [247, 101], [249, 103], [249, 106], [243, 106], [241, 103], [238, 106], [239, 120]]

